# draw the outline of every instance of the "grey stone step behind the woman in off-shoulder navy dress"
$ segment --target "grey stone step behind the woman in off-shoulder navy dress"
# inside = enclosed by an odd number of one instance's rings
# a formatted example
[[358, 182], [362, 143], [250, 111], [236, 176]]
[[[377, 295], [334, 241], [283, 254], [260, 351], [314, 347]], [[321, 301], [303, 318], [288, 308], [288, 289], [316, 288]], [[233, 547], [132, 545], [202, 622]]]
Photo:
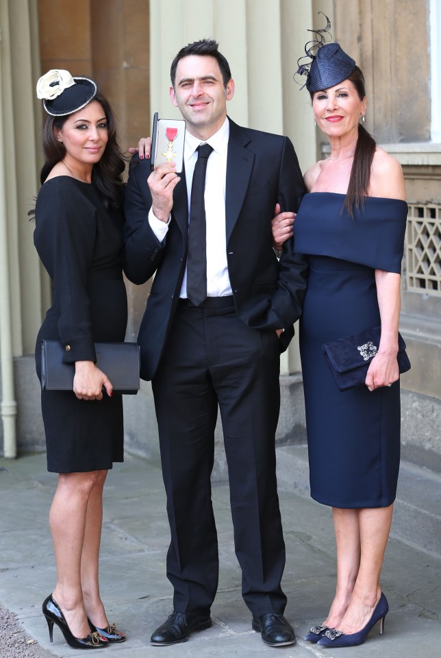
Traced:
[[[307, 447], [277, 448], [279, 487], [310, 496]], [[401, 461], [392, 537], [441, 559], [441, 475]]]

